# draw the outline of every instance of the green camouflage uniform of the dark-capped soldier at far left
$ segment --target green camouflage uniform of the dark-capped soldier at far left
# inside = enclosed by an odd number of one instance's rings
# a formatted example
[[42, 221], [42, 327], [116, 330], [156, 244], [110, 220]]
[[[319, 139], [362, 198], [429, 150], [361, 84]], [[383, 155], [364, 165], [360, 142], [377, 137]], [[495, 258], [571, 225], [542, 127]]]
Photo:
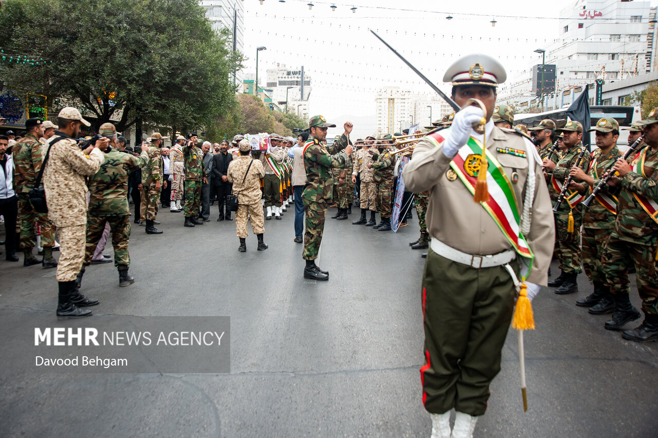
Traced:
[[35, 222], [39, 224], [41, 233], [41, 246], [55, 246], [55, 227], [48, 219], [47, 213], [38, 213], [32, 208], [28, 192], [34, 188], [41, 160], [43, 158], [43, 144], [34, 136], [26, 134], [18, 140], [13, 147], [14, 160], [14, 189], [18, 195], [18, 216], [20, 222], [20, 249], [34, 248]]

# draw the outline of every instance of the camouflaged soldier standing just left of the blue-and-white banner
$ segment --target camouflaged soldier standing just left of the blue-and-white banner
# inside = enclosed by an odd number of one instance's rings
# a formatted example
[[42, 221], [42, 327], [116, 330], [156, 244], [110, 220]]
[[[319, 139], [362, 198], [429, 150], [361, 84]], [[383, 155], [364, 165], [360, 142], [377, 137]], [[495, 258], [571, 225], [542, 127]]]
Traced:
[[[390, 137], [387, 134], [385, 138]], [[377, 184], [377, 212], [382, 222], [372, 226], [373, 230], [389, 231], [391, 228], [391, 199], [393, 196], [393, 170], [395, 168], [395, 151], [392, 140], [386, 139], [381, 153], [372, 153], [370, 168], [372, 180]]]

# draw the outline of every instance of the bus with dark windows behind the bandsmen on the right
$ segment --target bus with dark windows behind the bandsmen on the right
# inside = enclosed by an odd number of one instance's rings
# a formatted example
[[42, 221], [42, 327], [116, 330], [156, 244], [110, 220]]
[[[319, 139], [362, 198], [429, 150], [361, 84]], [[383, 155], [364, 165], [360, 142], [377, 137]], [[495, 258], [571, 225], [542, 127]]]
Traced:
[[[538, 112], [536, 114], [516, 114], [514, 116], [514, 124], [524, 124], [528, 128], [539, 126], [540, 122], [545, 118], [549, 118], [555, 122], [557, 128], [563, 128], [569, 119], [567, 116], [568, 108], [561, 108], [548, 112]], [[624, 107], [622, 105], [594, 105], [590, 107], [590, 121], [592, 126], [589, 128], [583, 127], [585, 130], [594, 128], [597, 120], [603, 117], [611, 117], [619, 122], [619, 140], [617, 145], [628, 145], [628, 131], [622, 131], [622, 128], [628, 128], [635, 122], [642, 120], [640, 114], [640, 107]], [[583, 133], [586, 135], [586, 133]], [[592, 149], [596, 147], [596, 139], [594, 132], [590, 132], [590, 145]]]

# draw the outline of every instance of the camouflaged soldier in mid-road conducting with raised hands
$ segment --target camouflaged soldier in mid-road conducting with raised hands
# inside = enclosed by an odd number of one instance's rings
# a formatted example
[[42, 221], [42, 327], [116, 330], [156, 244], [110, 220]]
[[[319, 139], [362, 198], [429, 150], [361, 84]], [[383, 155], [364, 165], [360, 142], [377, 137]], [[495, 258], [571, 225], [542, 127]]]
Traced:
[[[329, 280], [329, 273], [320, 270], [315, 259], [322, 243], [324, 216], [332, 204], [332, 186], [334, 184], [332, 168], [345, 168], [349, 165], [352, 147], [347, 135], [352, 132], [352, 124], [345, 122], [345, 132], [330, 147], [324, 144], [327, 128], [335, 128], [323, 116], [313, 116], [309, 122], [311, 135], [304, 143], [303, 157], [306, 170], [306, 185], [302, 193], [306, 214], [306, 231], [304, 235], [304, 251], [302, 257], [306, 260], [304, 278], [311, 280]], [[343, 150], [344, 149], [344, 150]]]

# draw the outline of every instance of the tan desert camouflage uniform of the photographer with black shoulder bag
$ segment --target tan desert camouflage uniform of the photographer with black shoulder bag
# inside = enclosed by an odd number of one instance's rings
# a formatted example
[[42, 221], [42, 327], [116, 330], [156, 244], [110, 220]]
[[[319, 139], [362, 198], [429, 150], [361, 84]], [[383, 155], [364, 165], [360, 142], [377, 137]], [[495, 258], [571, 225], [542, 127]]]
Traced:
[[43, 171], [43, 187], [48, 201], [48, 217], [57, 226], [61, 255], [57, 281], [73, 281], [82, 268], [87, 222], [87, 186], [85, 177], [98, 172], [105, 161], [99, 149], [84, 155], [75, 139], [63, 132], [55, 136], [66, 139], [49, 143], [50, 157]]

